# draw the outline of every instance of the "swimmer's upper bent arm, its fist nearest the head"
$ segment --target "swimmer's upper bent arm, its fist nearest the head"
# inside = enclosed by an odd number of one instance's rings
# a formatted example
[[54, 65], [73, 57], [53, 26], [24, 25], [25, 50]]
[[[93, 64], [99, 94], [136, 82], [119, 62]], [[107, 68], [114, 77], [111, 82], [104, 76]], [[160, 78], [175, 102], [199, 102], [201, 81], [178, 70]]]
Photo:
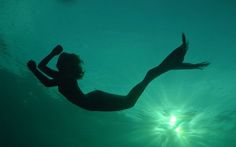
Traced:
[[38, 68], [44, 72], [45, 74], [47, 74], [48, 76], [55, 78], [58, 74], [57, 71], [47, 67], [48, 62], [55, 57], [56, 55], [59, 55], [62, 52], [63, 48], [60, 45], [57, 45], [52, 51], [51, 53], [49, 53], [49, 55], [47, 55], [38, 65]]

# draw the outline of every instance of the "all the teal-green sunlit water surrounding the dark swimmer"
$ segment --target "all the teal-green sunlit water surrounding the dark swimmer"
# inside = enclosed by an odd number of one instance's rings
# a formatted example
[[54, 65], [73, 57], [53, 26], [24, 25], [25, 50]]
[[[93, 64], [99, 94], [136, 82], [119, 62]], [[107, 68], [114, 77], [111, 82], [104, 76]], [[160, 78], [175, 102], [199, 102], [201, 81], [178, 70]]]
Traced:
[[[234, 0], [0, 0], [0, 146], [236, 147], [235, 16]], [[185, 61], [211, 65], [161, 75], [128, 110], [83, 110], [26, 67], [61, 44], [85, 93], [125, 95], [182, 32]]]

